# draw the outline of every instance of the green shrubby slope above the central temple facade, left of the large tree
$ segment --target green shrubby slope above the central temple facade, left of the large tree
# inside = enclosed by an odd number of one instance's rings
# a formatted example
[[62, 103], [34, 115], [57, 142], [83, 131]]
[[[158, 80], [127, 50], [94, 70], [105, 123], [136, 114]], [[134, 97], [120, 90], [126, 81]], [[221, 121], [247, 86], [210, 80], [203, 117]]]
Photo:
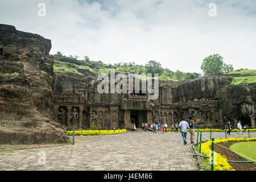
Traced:
[[[161, 81], [180, 81], [180, 80], [187, 80], [200, 77], [200, 73], [186, 73], [177, 70], [176, 72], [171, 71], [168, 68], [162, 68], [162, 65], [156, 61], [148, 61], [146, 65], [138, 65], [135, 63], [115, 63], [115, 64], [104, 64], [102, 61], [91, 61], [89, 57], [85, 56], [84, 60], [77, 60], [73, 56], [64, 56], [61, 52], [57, 52], [55, 55], [56, 59], [54, 61], [54, 72], [60, 73], [76, 73], [79, 75], [83, 75], [79, 68], [86, 69], [90, 73], [97, 75], [98, 73], [110, 73], [110, 69], [115, 69], [116, 73], [158, 73], [159, 80]], [[87, 74], [88, 72], [86, 72]], [[153, 75], [154, 76], [154, 75]]]

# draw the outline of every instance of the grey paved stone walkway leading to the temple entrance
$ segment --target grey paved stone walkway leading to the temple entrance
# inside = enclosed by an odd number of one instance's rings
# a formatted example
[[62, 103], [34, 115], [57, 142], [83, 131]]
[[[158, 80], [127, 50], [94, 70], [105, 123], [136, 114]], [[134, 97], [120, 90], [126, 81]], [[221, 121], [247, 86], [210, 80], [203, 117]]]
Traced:
[[[238, 137], [235, 133], [232, 136]], [[0, 152], [0, 170], [197, 170], [189, 133], [187, 139], [184, 145], [180, 133], [150, 131], [79, 136], [75, 145]], [[39, 164], [43, 153], [46, 164]]]

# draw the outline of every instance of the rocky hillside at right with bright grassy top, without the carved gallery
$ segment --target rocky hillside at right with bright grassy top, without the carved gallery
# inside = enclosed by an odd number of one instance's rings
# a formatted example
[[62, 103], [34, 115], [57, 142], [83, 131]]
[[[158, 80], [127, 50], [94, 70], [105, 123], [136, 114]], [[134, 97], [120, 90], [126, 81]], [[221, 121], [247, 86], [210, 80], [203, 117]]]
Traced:
[[193, 100], [218, 101], [223, 122], [229, 120], [234, 126], [241, 120], [255, 127], [255, 95], [256, 71], [249, 69], [180, 81], [172, 88], [173, 102], [181, 105]]

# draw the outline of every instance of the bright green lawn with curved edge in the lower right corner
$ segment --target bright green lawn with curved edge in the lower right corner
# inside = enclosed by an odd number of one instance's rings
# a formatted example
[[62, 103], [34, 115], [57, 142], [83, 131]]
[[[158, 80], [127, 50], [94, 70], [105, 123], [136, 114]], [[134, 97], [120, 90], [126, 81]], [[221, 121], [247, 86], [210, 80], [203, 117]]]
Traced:
[[[231, 150], [256, 160], [256, 142], [234, 143], [229, 147]], [[245, 158], [241, 156], [242, 158]], [[249, 160], [245, 158], [246, 160]]]

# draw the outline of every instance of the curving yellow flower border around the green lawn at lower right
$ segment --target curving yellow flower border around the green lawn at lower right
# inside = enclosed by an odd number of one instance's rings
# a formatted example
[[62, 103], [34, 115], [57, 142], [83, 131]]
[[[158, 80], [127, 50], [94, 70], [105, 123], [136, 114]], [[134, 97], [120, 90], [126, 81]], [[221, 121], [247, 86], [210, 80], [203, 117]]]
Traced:
[[[227, 138], [227, 139], [216, 139], [214, 140], [215, 143], [224, 143], [224, 142], [247, 142], [247, 141], [256, 141], [255, 138]], [[204, 142], [201, 144], [201, 154], [205, 156], [211, 157], [211, 146], [212, 141]], [[222, 156], [221, 154], [218, 154], [217, 152], [214, 152], [216, 154], [216, 163], [214, 164], [214, 171], [222, 171], [222, 168], [225, 171], [234, 171], [235, 169], [231, 169], [232, 166], [228, 163], [225, 156]], [[215, 156], [215, 155], [214, 155]]]

